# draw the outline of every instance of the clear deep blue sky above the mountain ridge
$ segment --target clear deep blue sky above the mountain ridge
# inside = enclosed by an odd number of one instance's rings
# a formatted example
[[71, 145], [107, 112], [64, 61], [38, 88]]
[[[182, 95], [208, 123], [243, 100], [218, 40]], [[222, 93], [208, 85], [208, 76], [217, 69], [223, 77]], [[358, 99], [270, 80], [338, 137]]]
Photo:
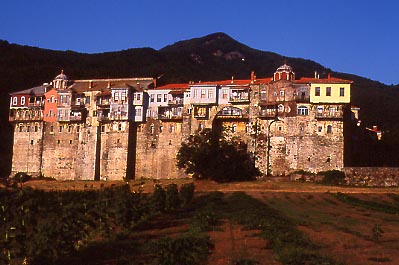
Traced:
[[395, 0], [1, 0], [0, 39], [98, 53], [224, 32], [252, 48], [398, 84], [398, 10]]

